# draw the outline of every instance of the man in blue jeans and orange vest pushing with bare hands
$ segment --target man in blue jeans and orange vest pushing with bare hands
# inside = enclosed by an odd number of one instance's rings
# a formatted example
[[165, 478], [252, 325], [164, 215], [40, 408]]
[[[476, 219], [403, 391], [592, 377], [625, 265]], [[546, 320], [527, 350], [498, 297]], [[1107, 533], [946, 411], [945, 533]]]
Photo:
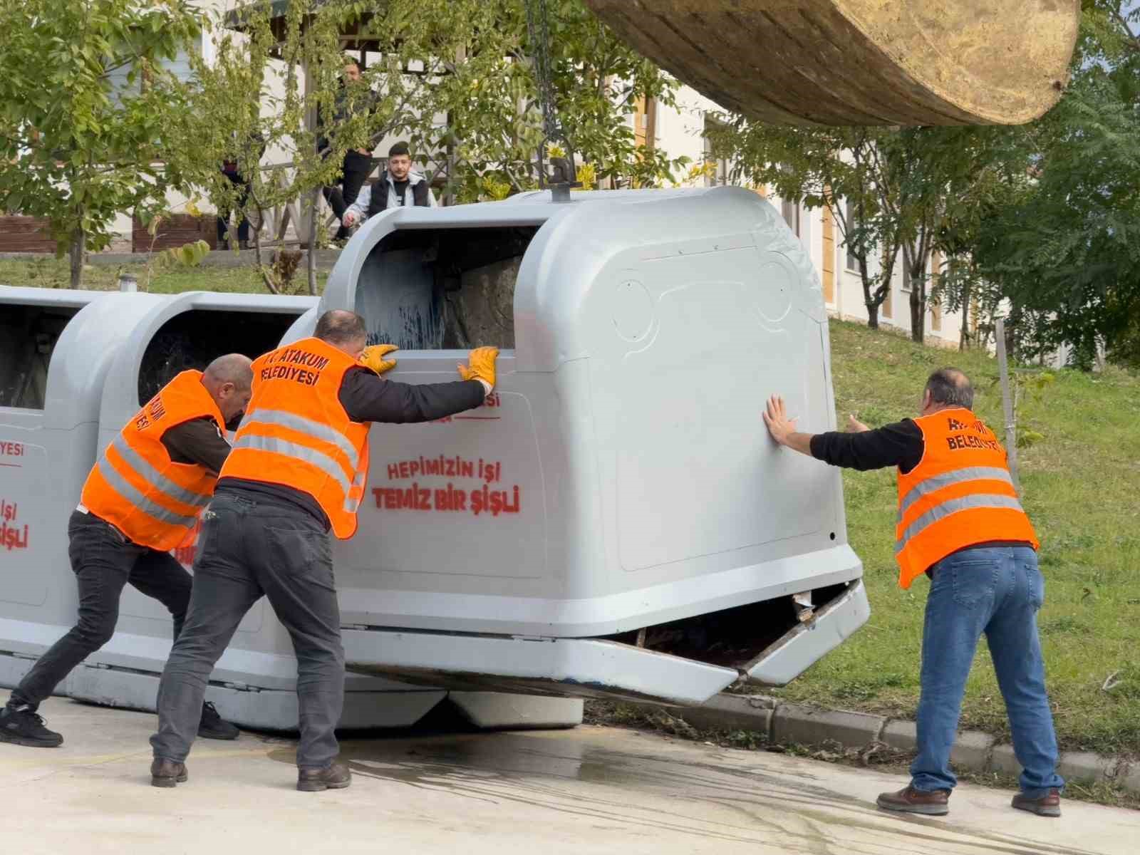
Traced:
[[930, 375], [921, 415], [870, 430], [850, 417], [848, 432], [796, 431], [783, 400], [764, 414], [772, 438], [836, 466], [896, 466], [898, 584], [930, 579], [922, 628], [918, 756], [911, 782], [879, 796], [879, 807], [943, 815], [958, 779], [950, 751], [978, 641], [985, 634], [1005, 700], [1013, 752], [1021, 764], [1013, 807], [1060, 816], [1065, 782], [1057, 774], [1057, 736], [1045, 692], [1037, 636], [1044, 581], [1040, 546], [1021, 508], [1005, 450], [971, 407], [974, 389], [962, 372]]

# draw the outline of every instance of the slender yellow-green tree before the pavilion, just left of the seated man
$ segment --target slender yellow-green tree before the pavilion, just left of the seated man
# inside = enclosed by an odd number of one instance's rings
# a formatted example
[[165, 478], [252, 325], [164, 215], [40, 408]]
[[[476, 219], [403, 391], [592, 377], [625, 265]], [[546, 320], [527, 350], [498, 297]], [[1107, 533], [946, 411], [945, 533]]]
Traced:
[[[367, 10], [345, 0], [292, 0], [276, 18], [269, 0], [252, 3], [237, 17], [214, 19], [213, 59], [195, 62], [197, 89], [193, 107], [178, 122], [180, 146], [198, 153], [196, 181], [219, 210], [241, 211], [253, 223], [258, 270], [275, 293], [285, 282], [263, 263], [266, 212], [300, 201], [294, 213], [310, 226], [307, 282], [315, 294], [321, 188], [333, 184], [349, 148], [374, 145], [402, 117], [421, 85], [405, 73], [412, 44], [386, 56], [361, 82], [343, 84], [341, 33]], [[340, 107], [343, 121], [319, 121]], [[267, 149], [284, 163], [263, 170]], [[223, 161], [236, 161], [247, 194], [222, 177]]]

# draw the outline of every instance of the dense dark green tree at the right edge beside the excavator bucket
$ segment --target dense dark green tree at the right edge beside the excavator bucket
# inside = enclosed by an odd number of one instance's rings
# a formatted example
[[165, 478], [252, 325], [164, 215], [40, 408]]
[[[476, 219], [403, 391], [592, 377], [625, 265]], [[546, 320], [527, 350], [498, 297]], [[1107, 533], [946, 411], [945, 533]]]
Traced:
[[1029, 316], [1037, 350], [1118, 350], [1140, 311], [1140, 13], [1130, 8], [1085, 3], [1072, 82], [1036, 127], [1034, 170], [977, 250], [984, 276]]

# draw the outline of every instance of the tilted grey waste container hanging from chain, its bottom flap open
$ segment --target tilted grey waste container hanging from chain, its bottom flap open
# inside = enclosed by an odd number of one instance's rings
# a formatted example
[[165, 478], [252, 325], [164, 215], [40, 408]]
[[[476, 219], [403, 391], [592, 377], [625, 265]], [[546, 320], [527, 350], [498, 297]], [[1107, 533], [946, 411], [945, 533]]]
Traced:
[[760, 423], [780, 392], [834, 426], [819, 279], [748, 190], [572, 198], [385, 212], [329, 277], [320, 309], [398, 344], [396, 380], [503, 348], [480, 409], [373, 427], [334, 545], [348, 667], [667, 703], [787, 683], [869, 613], [838, 472]]

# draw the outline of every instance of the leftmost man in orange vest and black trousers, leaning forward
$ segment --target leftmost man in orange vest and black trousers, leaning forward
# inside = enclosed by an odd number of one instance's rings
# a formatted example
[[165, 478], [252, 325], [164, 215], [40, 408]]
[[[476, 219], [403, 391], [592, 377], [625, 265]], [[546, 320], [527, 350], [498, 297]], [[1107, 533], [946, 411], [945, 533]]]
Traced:
[[[173, 513], [169, 504], [163, 504], [170, 502], [171, 495], [179, 497], [173, 504], [185, 499], [187, 469], [193, 467], [192, 473], [199, 472], [201, 482], [209, 484], [221, 471], [230, 451], [221, 431], [225, 422], [241, 416], [250, 399], [250, 366], [247, 357], [231, 353], [213, 360], [201, 374], [201, 381], [195, 380], [197, 372], [179, 375], [124, 429], [125, 432], [137, 427], [141, 432], [153, 423], [157, 442], [141, 440], [131, 446], [120, 434], [100, 456], [84, 484], [83, 502], [95, 505], [90, 497], [98, 497], [114, 508], [115, 513], [107, 515], [117, 524], [83, 504], [72, 513], [67, 527], [68, 556], [79, 583], [79, 620], [36, 660], [0, 710], [0, 742], [34, 748], [54, 748], [63, 743], [60, 734], [43, 726], [36, 709], [76, 665], [109, 641], [119, 619], [119, 597], [128, 583], [166, 606], [173, 618], [174, 638], [178, 638], [190, 602], [192, 577], [169, 551], [153, 546], [158, 543], [157, 537], [170, 531], [155, 515]], [[181, 396], [181, 400], [192, 399], [192, 406], [184, 412], [194, 412], [196, 397], [203, 401], [197, 412], [212, 408], [215, 415], [178, 421], [174, 400], [166, 394], [176, 384], [179, 386], [176, 391], [184, 388], [190, 391], [189, 396]], [[222, 424], [218, 423], [217, 414]], [[161, 424], [164, 417], [173, 423], [164, 427]], [[108, 457], [112, 448], [115, 449], [114, 459]], [[150, 489], [144, 492], [135, 486], [137, 481], [117, 480], [115, 461], [117, 466], [130, 467], [135, 473], [132, 479], [149, 482]], [[96, 473], [101, 480], [97, 480]], [[181, 483], [172, 479], [180, 479]], [[116, 486], [117, 490], [112, 491]], [[203, 500], [209, 500], [209, 496], [203, 496]], [[186, 522], [193, 523], [194, 519]], [[166, 545], [165, 542], [162, 545]], [[238, 735], [237, 727], [223, 722], [213, 705], [198, 706], [194, 723], [198, 735], [206, 739]]]

